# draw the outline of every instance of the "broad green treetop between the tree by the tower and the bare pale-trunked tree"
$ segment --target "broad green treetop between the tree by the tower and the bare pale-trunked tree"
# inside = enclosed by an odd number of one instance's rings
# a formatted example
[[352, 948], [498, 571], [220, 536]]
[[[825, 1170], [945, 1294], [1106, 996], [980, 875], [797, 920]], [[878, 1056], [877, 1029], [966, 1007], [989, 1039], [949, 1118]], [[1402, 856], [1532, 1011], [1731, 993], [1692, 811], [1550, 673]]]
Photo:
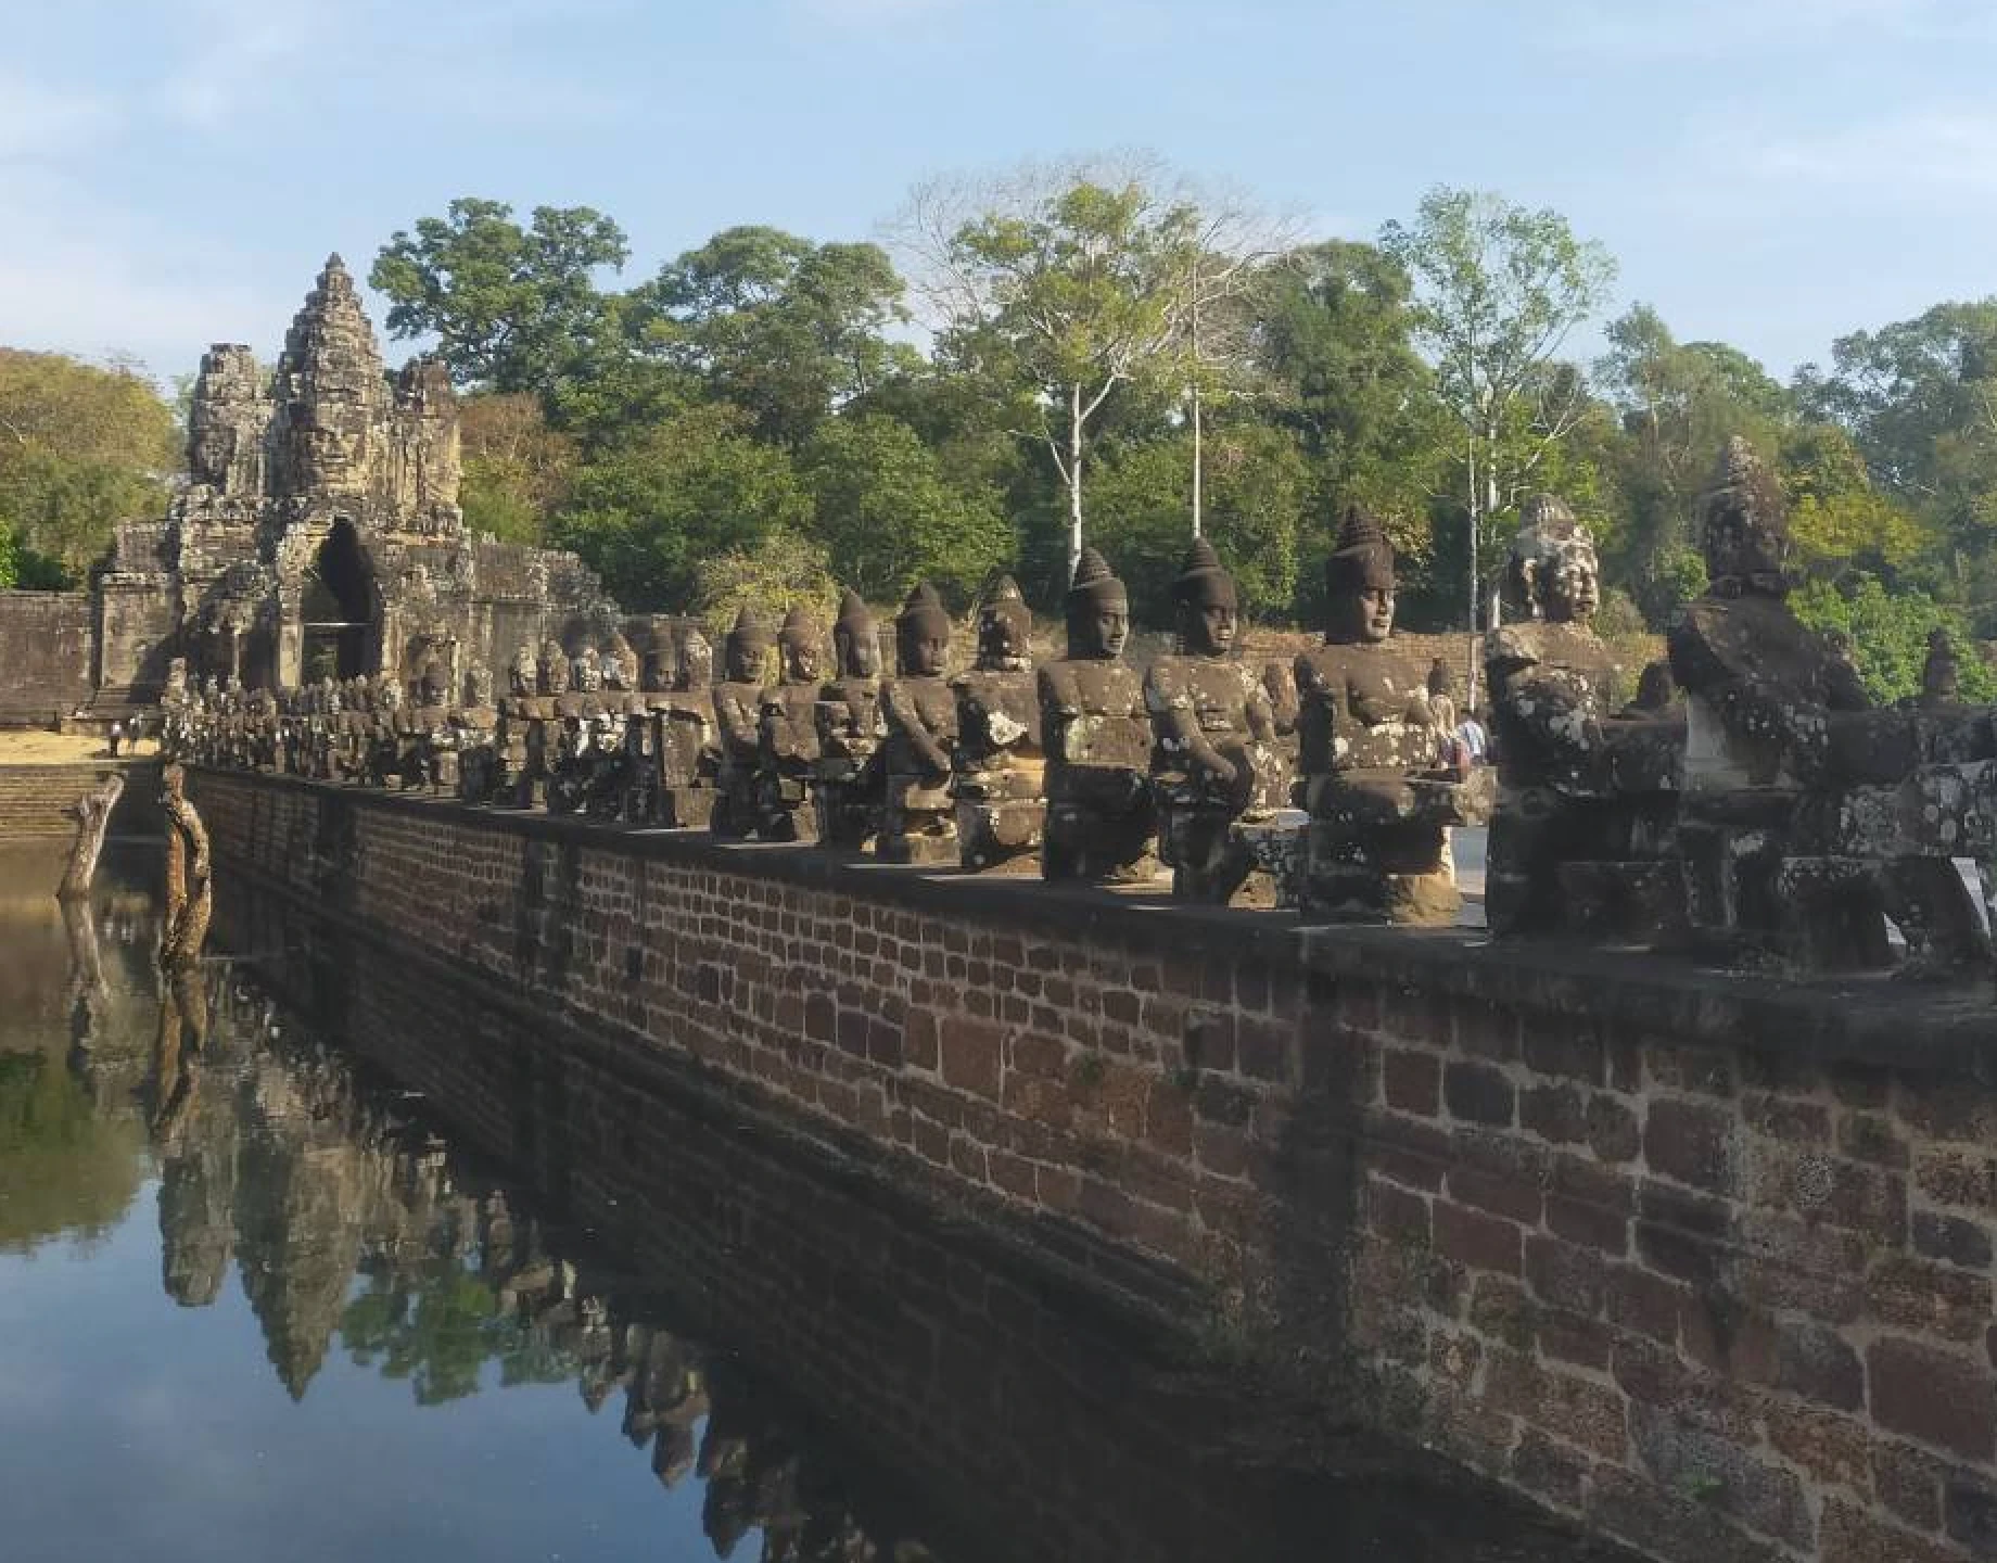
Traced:
[[729, 228], [631, 289], [623, 323], [641, 353], [733, 401], [759, 437], [795, 447], [831, 411], [919, 363], [887, 337], [907, 319], [903, 291], [875, 244]]

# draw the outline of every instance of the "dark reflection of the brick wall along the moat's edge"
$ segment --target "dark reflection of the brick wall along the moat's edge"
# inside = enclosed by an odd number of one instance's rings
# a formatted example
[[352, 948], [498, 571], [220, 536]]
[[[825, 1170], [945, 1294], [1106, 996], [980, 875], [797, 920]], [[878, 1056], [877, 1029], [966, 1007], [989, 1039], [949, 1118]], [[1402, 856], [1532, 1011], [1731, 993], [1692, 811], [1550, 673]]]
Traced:
[[[943, 1507], [925, 1531], [953, 1557], [1412, 1563], [1474, 1557], [1484, 1537], [1542, 1563], [1604, 1555], [1260, 1385], [1188, 1373], [1176, 1341], [1108, 1319], [973, 1232], [945, 1236], [915, 1200], [801, 1156], [667, 1066], [617, 1066], [611, 1046], [479, 1002], [288, 900], [236, 894], [224, 938], [284, 928], [288, 948], [310, 950], [288, 980], [339, 996], [351, 1046], [515, 1166], [555, 1216], [663, 1278], [689, 1327], [837, 1417], [869, 1471], [913, 1479], [925, 1513]], [[727, 1433], [717, 1415], [699, 1457], [717, 1545], [739, 1533], [735, 1505], [789, 1501], [789, 1477], [751, 1473]], [[1228, 1459], [1242, 1445], [1258, 1469]], [[1320, 1459], [1358, 1465], [1360, 1481]]]

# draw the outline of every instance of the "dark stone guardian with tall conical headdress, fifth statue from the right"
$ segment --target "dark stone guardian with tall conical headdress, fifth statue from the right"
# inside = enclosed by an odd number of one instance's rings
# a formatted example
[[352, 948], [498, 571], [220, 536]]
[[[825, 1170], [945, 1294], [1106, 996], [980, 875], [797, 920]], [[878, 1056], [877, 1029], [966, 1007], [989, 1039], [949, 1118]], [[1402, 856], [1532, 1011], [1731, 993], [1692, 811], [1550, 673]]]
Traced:
[[1144, 884], [1158, 876], [1144, 681], [1124, 659], [1130, 597], [1082, 549], [1066, 599], [1068, 655], [1038, 673], [1046, 824], [1040, 876]]

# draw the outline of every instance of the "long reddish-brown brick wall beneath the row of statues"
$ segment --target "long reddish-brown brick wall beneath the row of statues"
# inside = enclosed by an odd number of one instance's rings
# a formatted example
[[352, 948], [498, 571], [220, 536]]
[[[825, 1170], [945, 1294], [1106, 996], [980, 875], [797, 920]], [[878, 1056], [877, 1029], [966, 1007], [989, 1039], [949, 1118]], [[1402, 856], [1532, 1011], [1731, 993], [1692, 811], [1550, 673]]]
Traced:
[[1997, 1006], [200, 775], [258, 866], [1660, 1559], [1997, 1553]]

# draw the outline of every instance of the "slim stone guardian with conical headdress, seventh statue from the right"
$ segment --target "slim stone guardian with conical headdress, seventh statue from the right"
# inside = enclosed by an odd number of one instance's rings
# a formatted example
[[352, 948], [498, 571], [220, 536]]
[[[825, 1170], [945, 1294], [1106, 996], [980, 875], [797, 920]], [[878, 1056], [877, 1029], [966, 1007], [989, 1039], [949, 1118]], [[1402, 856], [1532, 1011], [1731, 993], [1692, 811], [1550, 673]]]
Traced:
[[927, 581], [917, 583], [895, 619], [895, 643], [901, 671], [881, 685], [885, 796], [875, 850], [885, 862], [957, 862], [957, 695], [943, 677], [951, 615]]

